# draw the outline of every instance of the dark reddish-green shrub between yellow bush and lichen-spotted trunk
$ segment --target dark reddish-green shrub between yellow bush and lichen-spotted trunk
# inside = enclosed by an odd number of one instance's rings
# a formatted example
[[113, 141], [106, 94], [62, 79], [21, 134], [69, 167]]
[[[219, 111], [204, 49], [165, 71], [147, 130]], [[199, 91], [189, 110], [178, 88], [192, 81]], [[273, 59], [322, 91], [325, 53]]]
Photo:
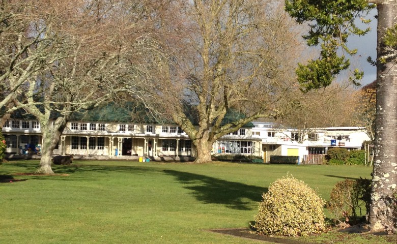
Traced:
[[[333, 187], [327, 209], [339, 223], [360, 222], [362, 206], [366, 208], [365, 217], [370, 213], [371, 180], [370, 179], [345, 179], [336, 183]], [[359, 216], [357, 216], [357, 212]]]

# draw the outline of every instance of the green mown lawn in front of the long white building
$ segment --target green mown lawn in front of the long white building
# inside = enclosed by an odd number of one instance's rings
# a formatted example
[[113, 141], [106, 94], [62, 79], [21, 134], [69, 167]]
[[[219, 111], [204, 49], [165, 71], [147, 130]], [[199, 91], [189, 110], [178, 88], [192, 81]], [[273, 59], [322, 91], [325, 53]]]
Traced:
[[[371, 173], [363, 166], [74, 161], [54, 165], [54, 176], [24, 174], [38, 164], [0, 166], [1, 243], [258, 243], [207, 230], [248, 227], [261, 194], [287, 172], [325, 199], [337, 181]], [[366, 239], [355, 243], [387, 243]]]

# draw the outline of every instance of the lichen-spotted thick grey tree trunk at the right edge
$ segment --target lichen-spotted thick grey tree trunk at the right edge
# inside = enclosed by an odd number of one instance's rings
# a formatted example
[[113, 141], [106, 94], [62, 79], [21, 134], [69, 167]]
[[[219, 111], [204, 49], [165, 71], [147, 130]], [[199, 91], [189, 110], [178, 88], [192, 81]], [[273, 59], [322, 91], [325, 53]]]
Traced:
[[[385, 29], [396, 24], [397, 3], [378, 5], [378, 63], [376, 96], [375, 163], [371, 193], [370, 227], [372, 232], [395, 232], [391, 197], [397, 184], [397, 66], [385, 48]], [[388, 58], [386, 64], [380, 57]]]

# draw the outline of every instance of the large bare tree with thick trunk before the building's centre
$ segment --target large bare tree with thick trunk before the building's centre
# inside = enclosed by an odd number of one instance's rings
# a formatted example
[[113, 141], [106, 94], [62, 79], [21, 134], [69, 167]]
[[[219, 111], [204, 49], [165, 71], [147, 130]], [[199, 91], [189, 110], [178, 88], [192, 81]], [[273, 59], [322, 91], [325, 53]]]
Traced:
[[[195, 163], [209, 162], [215, 140], [280, 113], [300, 44], [281, 2], [174, 1], [171, 7], [180, 13], [163, 26], [171, 31], [150, 106], [189, 135]], [[244, 116], [225, 121], [228, 112]]]

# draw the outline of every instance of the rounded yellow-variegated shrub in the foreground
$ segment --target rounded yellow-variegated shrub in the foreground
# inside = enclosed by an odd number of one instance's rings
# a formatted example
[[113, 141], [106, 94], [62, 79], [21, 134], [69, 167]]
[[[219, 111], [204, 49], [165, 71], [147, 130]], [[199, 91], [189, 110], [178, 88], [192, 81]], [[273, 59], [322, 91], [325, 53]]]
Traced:
[[301, 180], [277, 179], [262, 198], [252, 226], [260, 234], [306, 236], [325, 229], [324, 200]]

